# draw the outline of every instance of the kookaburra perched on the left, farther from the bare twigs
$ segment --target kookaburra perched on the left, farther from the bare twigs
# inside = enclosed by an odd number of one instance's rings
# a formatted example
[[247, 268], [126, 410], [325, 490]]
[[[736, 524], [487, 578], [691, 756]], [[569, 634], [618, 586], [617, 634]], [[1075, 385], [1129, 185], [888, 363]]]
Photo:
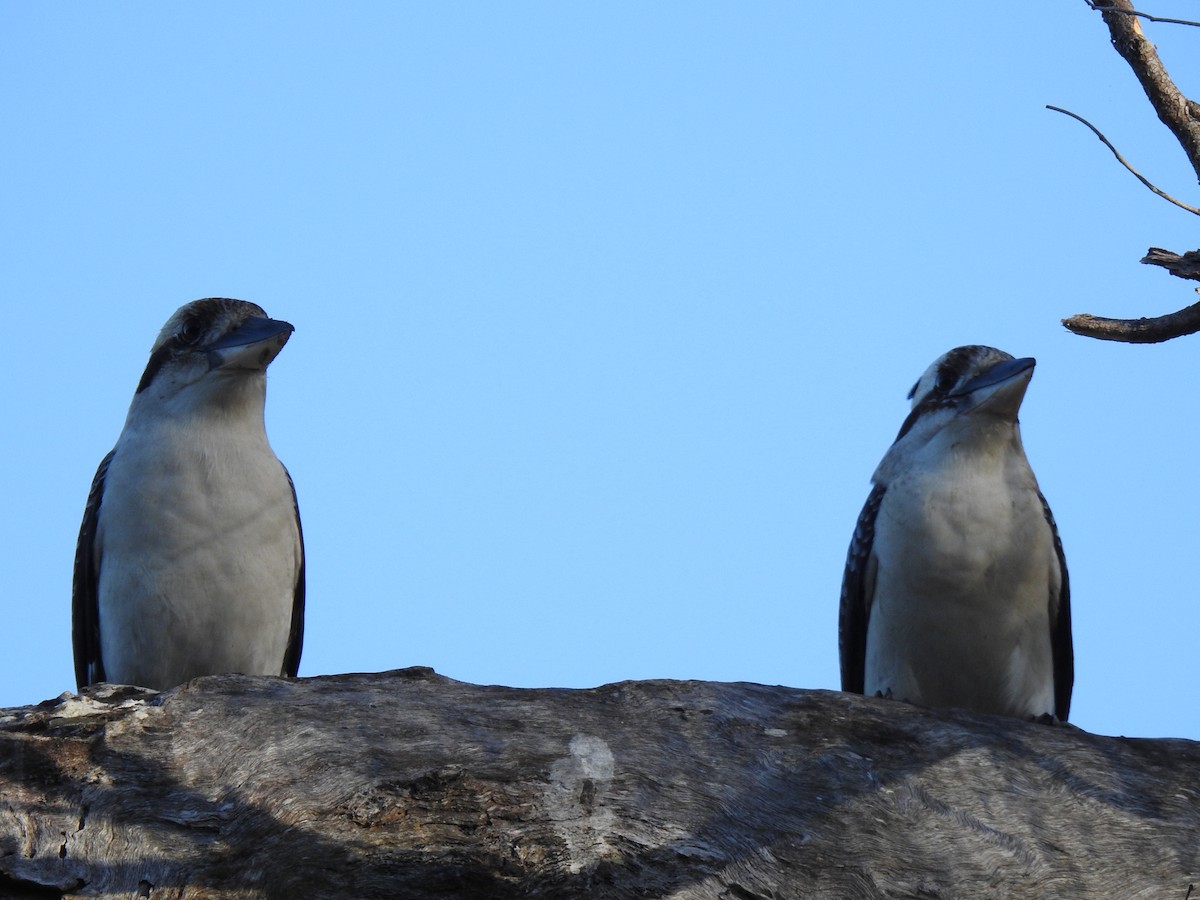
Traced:
[[292, 331], [254, 304], [218, 298], [163, 326], [79, 530], [80, 688], [295, 676], [304, 538], [263, 422], [266, 366]]

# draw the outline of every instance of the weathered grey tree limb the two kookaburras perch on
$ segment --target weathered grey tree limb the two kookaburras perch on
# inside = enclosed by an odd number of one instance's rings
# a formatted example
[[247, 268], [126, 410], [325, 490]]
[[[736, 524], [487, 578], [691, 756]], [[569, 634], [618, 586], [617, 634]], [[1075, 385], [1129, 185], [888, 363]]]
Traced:
[[1188, 740], [424, 668], [0, 710], [5, 898], [1184, 900], [1192, 883]]

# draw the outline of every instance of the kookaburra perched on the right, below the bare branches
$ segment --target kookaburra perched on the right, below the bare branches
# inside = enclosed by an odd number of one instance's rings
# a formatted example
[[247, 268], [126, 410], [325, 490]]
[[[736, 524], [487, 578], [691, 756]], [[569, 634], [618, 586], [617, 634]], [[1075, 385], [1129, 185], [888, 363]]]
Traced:
[[910, 392], [846, 560], [842, 690], [1067, 720], [1067, 563], [1016, 421], [1033, 366], [959, 347]]

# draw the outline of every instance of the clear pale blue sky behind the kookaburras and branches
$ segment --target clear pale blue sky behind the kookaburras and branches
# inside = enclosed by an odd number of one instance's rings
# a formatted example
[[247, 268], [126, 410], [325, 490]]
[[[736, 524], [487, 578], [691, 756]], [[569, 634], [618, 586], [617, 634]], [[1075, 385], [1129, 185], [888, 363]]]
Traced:
[[[1154, 12], [1187, 14], [1164, 2]], [[1200, 97], [1200, 34], [1147, 26]], [[0, 706], [73, 688], [84, 499], [179, 305], [295, 335], [301, 674], [836, 688], [869, 478], [942, 352], [1038, 358], [1072, 719], [1200, 738], [1194, 175], [1082, 0], [10, 4]]]

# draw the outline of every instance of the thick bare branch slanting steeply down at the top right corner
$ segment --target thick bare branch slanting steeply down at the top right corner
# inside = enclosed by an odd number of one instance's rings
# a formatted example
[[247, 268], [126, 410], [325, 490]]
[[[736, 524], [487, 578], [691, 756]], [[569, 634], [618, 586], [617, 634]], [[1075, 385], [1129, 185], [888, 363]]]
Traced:
[[1171, 80], [1129, 0], [1092, 0], [1088, 5], [1104, 17], [1112, 46], [1133, 68], [1159, 120], [1180, 142], [1200, 178], [1200, 104], [1183, 96]]

